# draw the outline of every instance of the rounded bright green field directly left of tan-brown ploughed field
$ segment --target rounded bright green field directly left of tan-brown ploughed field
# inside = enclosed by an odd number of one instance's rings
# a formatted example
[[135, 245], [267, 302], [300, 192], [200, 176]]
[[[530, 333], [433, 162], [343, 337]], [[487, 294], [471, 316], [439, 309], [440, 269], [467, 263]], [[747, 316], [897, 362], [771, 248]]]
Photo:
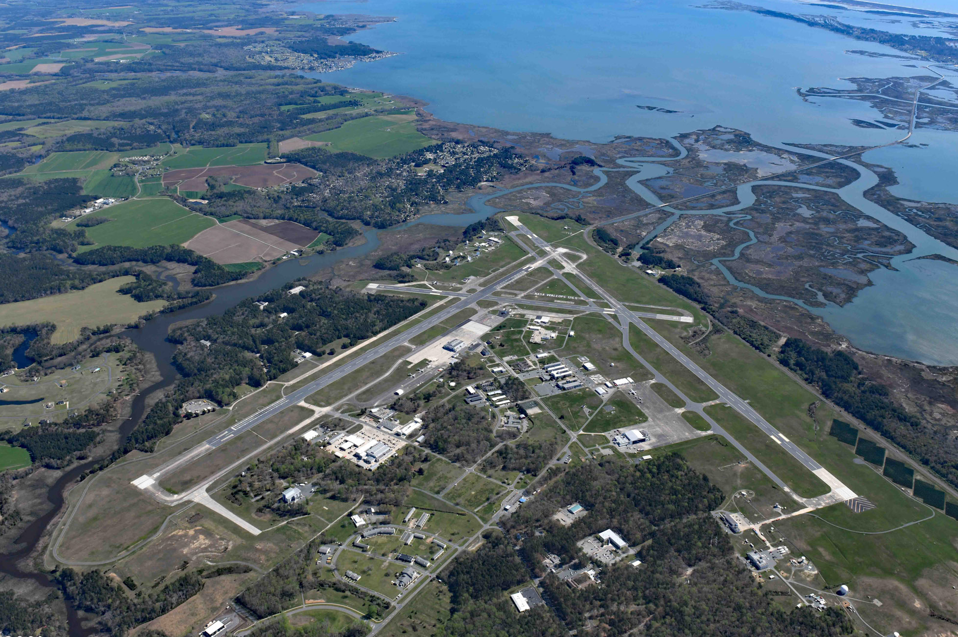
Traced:
[[100, 245], [149, 245], [184, 243], [199, 232], [216, 225], [208, 216], [198, 215], [171, 199], [134, 199], [104, 208], [98, 216], [112, 221], [86, 229], [86, 236], [96, 245], [85, 245], [80, 252]]

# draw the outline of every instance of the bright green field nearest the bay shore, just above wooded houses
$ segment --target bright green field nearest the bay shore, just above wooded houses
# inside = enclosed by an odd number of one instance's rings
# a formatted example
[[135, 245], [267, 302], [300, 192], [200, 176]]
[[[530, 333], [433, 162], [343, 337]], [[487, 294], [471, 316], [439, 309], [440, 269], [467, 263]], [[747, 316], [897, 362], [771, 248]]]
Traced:
[[416, 130], [415, 119], [405, 115], [364, 117], [304, 139], [329, 142], [333, 150], [349, 150], [384, 159], [435, 143]]

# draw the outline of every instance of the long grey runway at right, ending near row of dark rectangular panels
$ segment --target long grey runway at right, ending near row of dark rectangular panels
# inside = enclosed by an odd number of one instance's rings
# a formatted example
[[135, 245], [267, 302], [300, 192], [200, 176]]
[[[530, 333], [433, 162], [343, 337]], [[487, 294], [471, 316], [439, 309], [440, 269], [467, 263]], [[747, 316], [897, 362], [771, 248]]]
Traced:
[[[678, 362], [682, 363], [686, 369], [695, 374], [706, 385], [708, 385], [719, 396], [720, 400], [729, 404], [733, 409], [738, 411], [749, 421], [755, 423], [755, 425], [762, 429], [769, 438], [771, 438], [775, 443], [780, 444], [782, 448], [784, 448], [792, 457], [794, 457], [803, 466], [806, 466], [812, 473], [818, 476], [818, 478], [828, 485], [829, 489], [832, 491], [830, 494], [831, 497], [829, 498], [830, 501], [839, 502], [855, 497], [855, 491], [846, 487], [828, 469], [816, 463], [811, 459], [809, 454], [800, 449], [796, 444], [789, 441], [785, 435], [773, 427], [771, 423], [765, 421], [765, 419], [745, 400], [739, 398], [735, 393], [726, 389], [721, 383], [719, 383], [718, 380], [713, 378], [712, 375], [709, 375], [698, 365], [696, 365], [692, 359], [682, 353], [678, 348], [673, 346], [673, 344], [664, 336], [659, 334], [657, 331], [652, 330], [648, 324], [642, 321], [636, 312], [633, 312], [631, 309], [623, 305], [615, 297], [606, 292], [599, 284], [596, 284], [594, 281], [592, 281], [572, 262], [569, 262], [569, 260], [567, 260], [562, 253], [556, 250], [551, 244], [536, 236], [535, 233], [533, 233], [531, 230], [529, 230], [529, 228], [524, 226], [519, 221], [517, 216], [507, 216], [506, 220], [511, 222], [518, 229], [519, 233], [526, 235], [529, 237], [529, 239], [532, 239], [537, 248], [545, 250], [547, 254], [555, 257], [559, 260], [559, 262], [563, 262], [567, 269], [576, 273], [576, 275], [582, 280], [583, 284], [588, 285], [593, 291], [599, 294], [603, 300], [615, 310], [616, 314], [627, 320], [632, 325], [636, 326], [639, 330], [642, 330], [642, 332], [649, 336], [656, 343], [656, 345], [661, 347], [666, 352], [672, 354], [672, 356], [678, 360]], [[816, 501], [820, 500], [820, 498], [811, 499]]]

